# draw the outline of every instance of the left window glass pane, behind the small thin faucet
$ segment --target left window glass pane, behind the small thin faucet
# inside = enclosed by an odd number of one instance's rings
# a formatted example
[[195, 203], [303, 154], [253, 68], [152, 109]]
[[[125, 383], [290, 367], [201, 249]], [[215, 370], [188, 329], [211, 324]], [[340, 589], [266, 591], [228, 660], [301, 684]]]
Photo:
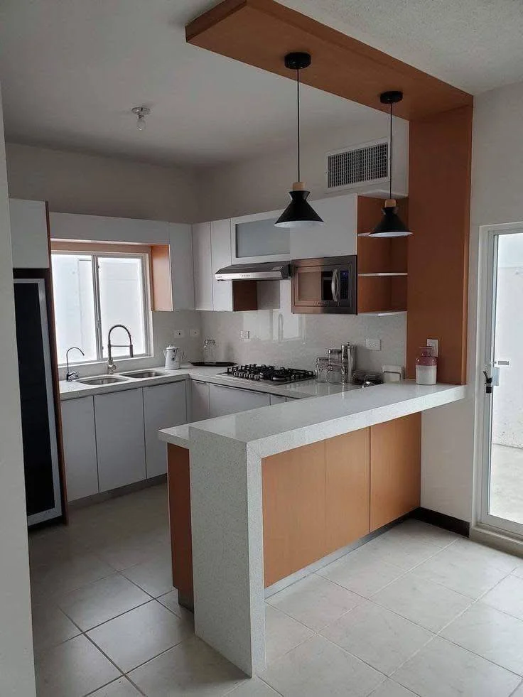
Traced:
[[97, 360], [92, 256], [53, 254], [52, 263], [58, 362], [65, 363], [70, 346], [85, 353], [71, 351], [71, 362]]

